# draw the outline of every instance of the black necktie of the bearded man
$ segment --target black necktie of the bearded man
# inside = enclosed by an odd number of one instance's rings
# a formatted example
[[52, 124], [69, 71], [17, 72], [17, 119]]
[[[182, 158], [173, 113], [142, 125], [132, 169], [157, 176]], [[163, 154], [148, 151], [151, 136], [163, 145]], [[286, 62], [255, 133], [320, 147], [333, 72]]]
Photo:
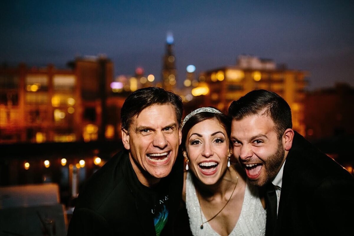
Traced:
[[272, 236], [274, 235], [276, 226], [276, 205], [278, 203], [272, 182], [267, 184], [265, 190], [265, 203], [267, 204], [267, 223], [265, 225], [265, 236]]

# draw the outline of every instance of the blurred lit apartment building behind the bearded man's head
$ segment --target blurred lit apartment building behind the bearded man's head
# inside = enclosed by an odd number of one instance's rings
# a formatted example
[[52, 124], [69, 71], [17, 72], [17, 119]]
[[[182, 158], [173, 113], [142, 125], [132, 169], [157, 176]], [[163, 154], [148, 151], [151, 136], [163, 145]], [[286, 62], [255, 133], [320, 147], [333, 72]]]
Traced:
[[305, 71], [289, 70], [284, 65], [277, 67], [274, 61], [269, 59], [239, 56], [235, 66], [201, 73], [199, 86], [209, 90], [203, 105], [223, 111], [227, 111], [233, 100], [252, 90], [265, 89], [276, 92], [291, 107], [293, 128], [304, 134], [305, 76]]

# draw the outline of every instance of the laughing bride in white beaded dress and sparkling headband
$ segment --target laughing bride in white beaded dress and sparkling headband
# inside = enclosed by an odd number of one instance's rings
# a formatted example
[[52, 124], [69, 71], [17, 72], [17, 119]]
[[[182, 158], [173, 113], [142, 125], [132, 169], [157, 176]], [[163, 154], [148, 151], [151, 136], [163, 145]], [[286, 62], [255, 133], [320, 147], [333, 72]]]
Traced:
[[215, 108], [196, 109], [183, 120], [187, 172], [182, 197], [193, 235], [265, 235], [258, 189], [230, 163], [229, 135], [229, 118]]

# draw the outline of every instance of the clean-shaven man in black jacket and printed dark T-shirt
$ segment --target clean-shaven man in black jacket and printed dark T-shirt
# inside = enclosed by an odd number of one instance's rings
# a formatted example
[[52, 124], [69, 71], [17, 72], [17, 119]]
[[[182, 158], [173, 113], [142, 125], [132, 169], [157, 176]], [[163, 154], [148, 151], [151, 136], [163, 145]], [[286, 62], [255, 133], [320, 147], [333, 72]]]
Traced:
[[126, 150], [85, 184], [68, 235], [172, 234], [183, 186], [183, 159], [176, 161], [182, 111], [179, 96], [157, 87], [137, 90], [125, 100]]

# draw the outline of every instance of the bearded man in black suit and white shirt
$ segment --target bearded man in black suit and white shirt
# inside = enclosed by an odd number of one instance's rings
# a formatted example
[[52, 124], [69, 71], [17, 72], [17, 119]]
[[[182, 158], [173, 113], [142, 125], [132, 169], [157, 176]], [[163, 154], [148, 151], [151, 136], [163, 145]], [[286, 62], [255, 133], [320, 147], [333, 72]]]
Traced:
[[278, 94], [247, 93], [229, 107], [235, 157], [263, 187], [265, 235], [353, 235], [354, 179], [292, 130]]

